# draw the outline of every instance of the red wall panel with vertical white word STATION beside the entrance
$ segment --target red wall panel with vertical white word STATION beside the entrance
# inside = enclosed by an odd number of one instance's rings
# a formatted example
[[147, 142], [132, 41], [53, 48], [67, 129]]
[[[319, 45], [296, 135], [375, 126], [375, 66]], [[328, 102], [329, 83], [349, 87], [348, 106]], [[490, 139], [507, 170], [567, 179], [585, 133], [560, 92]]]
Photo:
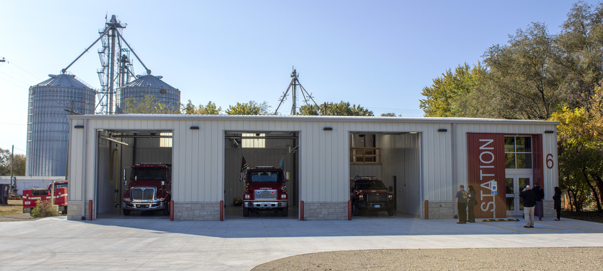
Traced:
[[467, 157], [468, 184], [477, 192], [475, 217], [506, 217], [504, 134], [468, 133]]

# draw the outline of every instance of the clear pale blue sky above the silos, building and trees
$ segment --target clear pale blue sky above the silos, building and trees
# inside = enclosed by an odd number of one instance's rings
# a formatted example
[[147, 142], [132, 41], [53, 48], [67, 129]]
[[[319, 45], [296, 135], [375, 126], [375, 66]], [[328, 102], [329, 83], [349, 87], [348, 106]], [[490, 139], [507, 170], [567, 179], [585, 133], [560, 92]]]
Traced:
[[[195, 106], [267, 101], [276, 110], [296, 68], [316, 103], [423, 117], [421, 91], [482, 60], [532, 22], [551, 33], [573, 1], [3, 1], [0, 148], [26, 154], [28, 89], [59, 74], [115, 14], [153, 75]], [[597, 3], [597, 1], [586, 1]], [[68, 72], [100, 88], [97, 43]], [[136, 74], [144, 68], [134, 61]], [[303, 105], [298, 92], [298, 106]], [[278, 110], [291, 111], [291, 96]]]

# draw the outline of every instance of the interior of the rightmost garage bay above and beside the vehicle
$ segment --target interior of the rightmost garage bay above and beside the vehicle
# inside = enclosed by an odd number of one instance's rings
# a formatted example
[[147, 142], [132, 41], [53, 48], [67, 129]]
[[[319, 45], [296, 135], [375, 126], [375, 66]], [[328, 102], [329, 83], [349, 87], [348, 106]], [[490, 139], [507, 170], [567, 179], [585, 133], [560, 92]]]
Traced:
[[350, 132], [350, 178], [374, 176], [392, 186], [396, 213], [421, 212], [421, 133]]

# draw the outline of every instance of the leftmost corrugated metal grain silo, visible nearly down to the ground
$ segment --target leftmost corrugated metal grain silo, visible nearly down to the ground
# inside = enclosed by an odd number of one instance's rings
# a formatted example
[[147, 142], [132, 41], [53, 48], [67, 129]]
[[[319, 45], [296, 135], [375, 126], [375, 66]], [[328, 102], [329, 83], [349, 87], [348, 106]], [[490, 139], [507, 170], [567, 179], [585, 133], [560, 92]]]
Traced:
[[48, 75], [29, 88], [27, 162], [29, 176], [65, 176], [69, 114], [94, 114], [95, 90], [73, 74]]

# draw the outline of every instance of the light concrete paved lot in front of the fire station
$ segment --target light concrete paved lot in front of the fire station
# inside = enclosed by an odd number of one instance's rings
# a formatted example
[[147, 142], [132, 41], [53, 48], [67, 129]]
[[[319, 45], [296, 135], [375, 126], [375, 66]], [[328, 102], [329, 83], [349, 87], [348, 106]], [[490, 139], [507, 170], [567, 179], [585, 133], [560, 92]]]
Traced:
[[0, 223], [2, 270], [250, 270], [282, 257], [392, 248], [600, 247], [603, 224], [544, 219], [459, 225], [454, 219], [354, 217], [298, 221], [249, 217], [169, 221], [152, 217]]

